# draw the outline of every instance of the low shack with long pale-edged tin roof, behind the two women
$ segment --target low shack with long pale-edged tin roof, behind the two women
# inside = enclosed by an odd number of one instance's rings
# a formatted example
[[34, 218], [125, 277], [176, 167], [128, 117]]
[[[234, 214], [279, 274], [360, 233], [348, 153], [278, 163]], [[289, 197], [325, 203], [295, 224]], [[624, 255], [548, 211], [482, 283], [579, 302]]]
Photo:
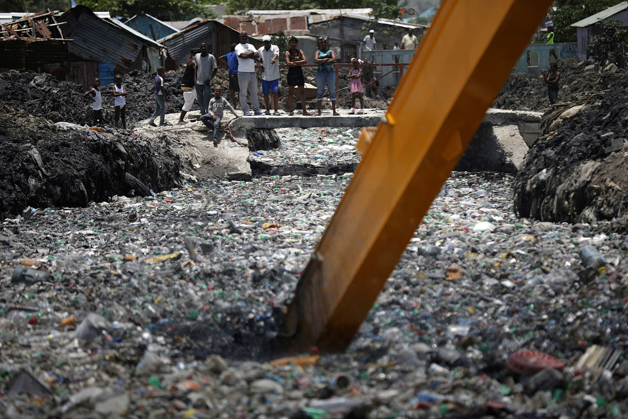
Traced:
[[[409, 28], [412, 28], [414, 35], [417, 36], [428, 28], [423, 24], [404, 23], [391, 19], [372, 21], [369, 17], [359, 14], [328, 15], [326, 19], [323, 19], [323, 16], [310, 16], [308, 22], [310, 22], [311, 33], [360, 43], [364, 36], [368, 35], [368, 30], [362, 30], [362, 25], [367, 24], [369, 30], [375, 31], [376, 45], [380, 50], [392, 50], [395, 41], [401, 42], [401, 38], [408, 33]], [[382, 36], [382, 33], [387, 35]]]

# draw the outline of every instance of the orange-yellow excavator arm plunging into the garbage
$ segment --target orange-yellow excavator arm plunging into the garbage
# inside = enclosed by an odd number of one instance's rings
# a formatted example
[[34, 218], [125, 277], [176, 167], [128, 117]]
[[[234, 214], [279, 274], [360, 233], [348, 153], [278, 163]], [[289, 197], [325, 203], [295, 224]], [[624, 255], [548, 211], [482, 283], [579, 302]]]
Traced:
[[552, 0], [444, 0], [296, 286], [288, 352], [342, 351]]

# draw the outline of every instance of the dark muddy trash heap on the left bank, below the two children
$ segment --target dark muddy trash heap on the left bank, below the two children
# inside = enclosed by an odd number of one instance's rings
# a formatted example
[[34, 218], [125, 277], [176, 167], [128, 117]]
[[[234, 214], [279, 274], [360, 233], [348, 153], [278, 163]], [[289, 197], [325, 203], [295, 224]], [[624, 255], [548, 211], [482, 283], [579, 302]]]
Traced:
[[156, 142], [0, 106], [0, 217], [32, 208], [85, 207], [114, 195], [151, 195], [180, 180], [168, 137]]

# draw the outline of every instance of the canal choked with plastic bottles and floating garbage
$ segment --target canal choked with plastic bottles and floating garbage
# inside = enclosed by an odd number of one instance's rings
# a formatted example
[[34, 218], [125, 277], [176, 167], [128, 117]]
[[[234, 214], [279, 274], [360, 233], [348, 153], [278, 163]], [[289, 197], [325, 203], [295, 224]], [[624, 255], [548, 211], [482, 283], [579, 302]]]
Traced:
[[344, 129], [280, 136], [251, 160], [311, 176], [184, 176], [4, 220], [3, 416], [628, 412], [625, 227], [518, 219], [510, 175], [452, 173], [349, 349], [278, 359], [268, 342], [352, 178], [322, 173], [359, 161]]

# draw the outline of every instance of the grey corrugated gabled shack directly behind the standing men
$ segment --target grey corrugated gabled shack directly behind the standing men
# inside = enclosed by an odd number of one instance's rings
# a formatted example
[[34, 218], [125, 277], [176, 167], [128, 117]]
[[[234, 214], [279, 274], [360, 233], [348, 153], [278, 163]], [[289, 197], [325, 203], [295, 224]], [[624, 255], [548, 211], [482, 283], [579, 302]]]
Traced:
[[[207, 19], [184, 30], [173, 33], [159, 40], [168, 50], [166, 70], [176, 70], [196, 53], [198, 46], [207, 43], [209, 52], [218, 58], [231, 52], [231, 44], [239, 43], [239, 31], [226, 26], [215, 19]], [[249, 38], [249, 42], [259, 48], [261, 41]]]

